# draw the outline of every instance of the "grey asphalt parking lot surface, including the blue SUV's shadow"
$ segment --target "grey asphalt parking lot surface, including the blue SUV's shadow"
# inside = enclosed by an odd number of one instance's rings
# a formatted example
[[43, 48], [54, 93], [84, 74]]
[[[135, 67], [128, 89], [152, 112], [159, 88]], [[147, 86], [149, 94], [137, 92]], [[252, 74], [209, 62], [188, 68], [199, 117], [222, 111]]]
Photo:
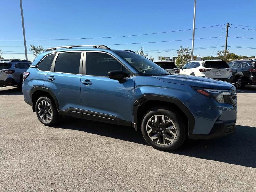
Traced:
[[238, 90], [236, 133], [158, 151], [133, 128], [39, 122], [0, 87], [0, 191], [256, 191], [256, 86]]

